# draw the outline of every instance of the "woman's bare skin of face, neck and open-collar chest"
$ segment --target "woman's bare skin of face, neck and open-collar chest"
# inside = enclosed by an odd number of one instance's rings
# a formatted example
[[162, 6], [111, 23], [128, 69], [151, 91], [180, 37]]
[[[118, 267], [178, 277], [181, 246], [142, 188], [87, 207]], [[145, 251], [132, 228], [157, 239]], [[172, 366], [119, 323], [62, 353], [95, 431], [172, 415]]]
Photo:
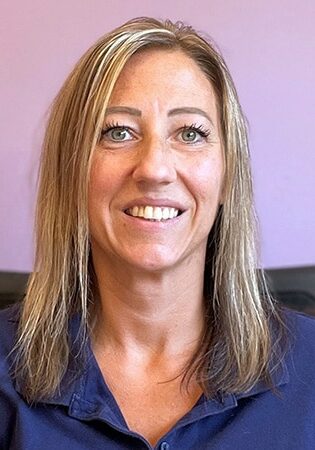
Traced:
[[[104, 132], [94, 151], [89, 183], [99, 285], [93, 350], [129, 426], [154, 443], [201, 393], [192, 383], [179, 401], [180, 378], [160, 382], [178, 376], [203, 330], [207, 236], [224, 184], [213, 88], [183, 52], [142, 51], [114, 88], [104, 128], [117, 125], [124, 128]], [[209, 135], [183, 130], [191, 125]], [[130, 206], [160, 203], [182, 214], [164, 222], [126, 214]], [[154, 425], [160, 403], [172, 396], [174, 414], [168, 407]], [[143, 417], [150, 417], [147, 426]]]

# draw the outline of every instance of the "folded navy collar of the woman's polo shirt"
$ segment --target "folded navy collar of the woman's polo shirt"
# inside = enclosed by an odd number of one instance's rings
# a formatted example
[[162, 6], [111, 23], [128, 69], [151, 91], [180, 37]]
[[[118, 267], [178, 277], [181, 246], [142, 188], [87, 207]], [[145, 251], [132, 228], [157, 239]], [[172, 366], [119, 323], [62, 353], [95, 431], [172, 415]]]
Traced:
[[[13, 317], [9, 320], [18, 323], [19, 313], [12, 308]], [[85, 364], [83, 368], [78, 367], [77, 358], [80, 341], [80, 315], [76, 314], [70, 321], [69, 335], [72, 342], [70, 361], [67, 372], [61, 382], [60, 390], [49, 399], [40, 403], [51, 405], [63, 405], [68, 407], [71, 417], [80, 420], [92, 420], [101, 418], [115, 427], [126, 430], [127, 424], [120, 412], [120, 409], [106, 385], [91, 349], [90, 341], [87, 340], [83, 348]], [[187, 425], [195, 420], [206, 416], [222, 413], [238, 405], [238, 401], [251, 396], [273, 390], [289, 382], [289, 373], [285, 361], [271, 373], [273, 389], [265, 382], [259, 381], [250, 390], [239, 394], [226, 394], [219, 400], [207, 399], [202, 395], [195, 407], [186, 414], [178, 425]], [[17, 392], [21, 394], [19, 386], [15, 386]], [[21, 394], [22, 395], [22, 394]]]

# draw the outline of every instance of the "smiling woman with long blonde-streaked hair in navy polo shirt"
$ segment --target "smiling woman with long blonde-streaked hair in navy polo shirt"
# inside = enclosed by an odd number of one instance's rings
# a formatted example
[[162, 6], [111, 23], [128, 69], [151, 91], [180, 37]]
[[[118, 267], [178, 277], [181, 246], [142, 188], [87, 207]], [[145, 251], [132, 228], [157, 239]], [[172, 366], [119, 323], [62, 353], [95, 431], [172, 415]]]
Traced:
[[282, 317], [256, 268], [222, 57], [128, 22], [52, 106], [34, 273], [1, 313], [1, 448], [313, 448], [314, 321]]

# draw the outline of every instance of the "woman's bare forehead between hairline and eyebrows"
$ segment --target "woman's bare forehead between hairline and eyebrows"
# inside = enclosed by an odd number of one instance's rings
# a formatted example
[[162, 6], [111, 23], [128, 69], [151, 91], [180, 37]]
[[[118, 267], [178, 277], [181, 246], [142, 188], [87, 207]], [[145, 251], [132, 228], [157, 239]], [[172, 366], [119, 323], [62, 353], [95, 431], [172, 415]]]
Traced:
[[109, 105], [136, 107], [149, 102], [165, 108], [216, 110], [210, 80], [181, 50], [146, 49], [133, 55], [118, 77]]

